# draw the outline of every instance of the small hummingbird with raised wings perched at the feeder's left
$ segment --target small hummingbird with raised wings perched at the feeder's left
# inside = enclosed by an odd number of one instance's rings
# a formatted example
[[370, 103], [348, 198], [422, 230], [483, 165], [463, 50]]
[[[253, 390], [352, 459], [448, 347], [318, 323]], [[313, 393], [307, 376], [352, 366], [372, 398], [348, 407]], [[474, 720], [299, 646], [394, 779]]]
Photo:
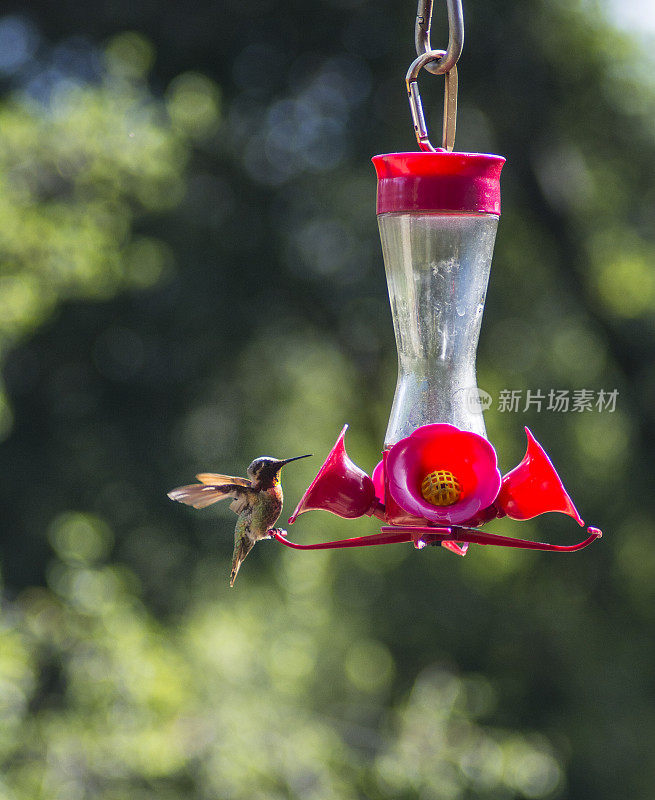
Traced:
[[280, 470], [285, 464], [310, 455], [285, 459], [260, 456], [248, 467], [247, 478], [202, 472], [196, 475], [200, 483], [180, 486], [168, 493], [171, 500], [194, 508], [205, 508], [219, 500], [232, 498], [230, 508], [237, 515], [237, 524], [230, 586], [234, 586], [239, 568], [255, 544], [261, 539], [270, 539], [276, 532], [273, 525], [280, 518], [283, 501]]

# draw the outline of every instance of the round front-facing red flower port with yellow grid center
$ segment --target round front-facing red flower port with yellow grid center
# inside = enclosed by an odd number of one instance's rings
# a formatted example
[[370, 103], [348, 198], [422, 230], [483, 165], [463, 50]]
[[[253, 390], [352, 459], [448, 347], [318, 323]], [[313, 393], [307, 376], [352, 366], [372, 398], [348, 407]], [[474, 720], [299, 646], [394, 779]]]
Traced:
[[387, 455], [389, 493], [415, 517], [458, 525], [490, 506], [501, 485], [496, 451], [477, 433], [423, 425]]

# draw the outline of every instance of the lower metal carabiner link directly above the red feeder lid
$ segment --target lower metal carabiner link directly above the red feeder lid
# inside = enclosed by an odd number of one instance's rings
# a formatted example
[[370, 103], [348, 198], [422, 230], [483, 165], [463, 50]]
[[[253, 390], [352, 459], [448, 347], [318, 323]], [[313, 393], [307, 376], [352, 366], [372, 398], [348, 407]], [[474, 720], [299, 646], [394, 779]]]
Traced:
[[433, 147], [430, 143], [427, 125], [425, 124], [425, 116], [423, 114], [423, 103], [421, 102], [421, 95], [418, 90], [418, 75], [423, 67], [427, 69], [427, 65], [433, 61], [438, 61], [436, 65], [437, 75], [444, 75], [444, 103], [443, 103], [443, 134], [442, 134], [442, 149], [452, 152], [455, 146], [455, 127], [457, 124], [457, 67], [452, 66], [447, 72], [443, 69], [442, 64], [445, 61], [445, 50], [430, 50], [423, 53], [416, 60], [414, 60], [409, 69], [407, 70], [407, 95], [409, 97], [409, 109], [412, 113], [412, 121], [414, 123], [414, 132], [416, 133], [416, 141], [421, 150], [430, 153], [436, 153], [437, 148]]

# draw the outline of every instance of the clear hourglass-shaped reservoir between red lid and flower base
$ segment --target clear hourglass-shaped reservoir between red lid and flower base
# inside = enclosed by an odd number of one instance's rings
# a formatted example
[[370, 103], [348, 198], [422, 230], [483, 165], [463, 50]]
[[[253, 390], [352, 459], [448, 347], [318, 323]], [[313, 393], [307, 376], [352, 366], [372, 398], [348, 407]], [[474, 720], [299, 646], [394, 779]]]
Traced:
[[378, 215], [398, 349], [385, 449], [421, 425], [486, 435], [475, 358], [498, 215]]

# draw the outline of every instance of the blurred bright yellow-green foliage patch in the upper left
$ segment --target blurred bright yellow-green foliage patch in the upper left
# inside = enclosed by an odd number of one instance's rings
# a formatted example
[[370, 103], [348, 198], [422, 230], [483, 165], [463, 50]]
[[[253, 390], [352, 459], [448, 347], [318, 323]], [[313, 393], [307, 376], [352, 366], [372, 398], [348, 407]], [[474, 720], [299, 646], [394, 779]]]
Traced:
[[[170, 248], [138, 226], [177, 205], [189, 149], [180, 130], [216, 121], [216, 90], [206, 78], [180, 76], [166, 121], [144, 83], [141, 51], [149, 49], [136, 34], [118, 36], [97, 84], [52, 80], [0, 108], [2, 354], [60, 303], [152, 286], [170, 267]], [[7, 434], [4, 399], [1, 408]]]

